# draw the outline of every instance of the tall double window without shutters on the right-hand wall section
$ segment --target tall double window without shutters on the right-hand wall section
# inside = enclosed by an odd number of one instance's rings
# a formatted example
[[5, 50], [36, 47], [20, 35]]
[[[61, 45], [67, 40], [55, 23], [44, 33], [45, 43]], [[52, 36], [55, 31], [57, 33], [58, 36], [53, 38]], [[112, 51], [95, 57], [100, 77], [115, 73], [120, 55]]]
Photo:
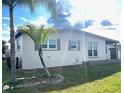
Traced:
[[97, 43], [89, 42], [88, 45], [88, 56], [97, 56]]

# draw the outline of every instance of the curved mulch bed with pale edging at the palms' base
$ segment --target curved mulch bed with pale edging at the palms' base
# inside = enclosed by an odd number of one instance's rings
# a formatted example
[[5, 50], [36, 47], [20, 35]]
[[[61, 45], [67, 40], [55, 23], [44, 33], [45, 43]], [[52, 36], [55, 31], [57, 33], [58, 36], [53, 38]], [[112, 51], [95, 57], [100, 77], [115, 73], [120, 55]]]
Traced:
[[26, 77], [26, 78], [18, 78], [17, 80], [18, 80], [17, 84], [15, 86], [9, 85], [9, 89], [30, 87], [30, 86], [39, 85], [39, 84], [41, 85], [58, 84], [64, 80], [64, 77], [57, 74], [51, 77], [33, 76], [33, 77]]

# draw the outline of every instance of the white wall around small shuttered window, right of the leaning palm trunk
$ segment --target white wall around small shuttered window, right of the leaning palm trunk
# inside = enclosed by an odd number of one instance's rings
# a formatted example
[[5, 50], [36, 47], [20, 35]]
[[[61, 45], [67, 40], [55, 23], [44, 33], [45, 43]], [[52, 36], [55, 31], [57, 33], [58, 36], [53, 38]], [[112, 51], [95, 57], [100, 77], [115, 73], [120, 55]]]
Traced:
[[[77, 34], [77, 35], [76, 35]], [[61, 32], [52, 35], [50, 38], [60, 39], [60, 50], [58, 51], [44, 51], [44, 58], [48, 67], [65, 66], [81, 64], [83, 60], [83, 48], [79, 51], [69, 50], [69, 40], [80, 40], [80, 45], [83, 45], [82, 35], [76, 32]]]

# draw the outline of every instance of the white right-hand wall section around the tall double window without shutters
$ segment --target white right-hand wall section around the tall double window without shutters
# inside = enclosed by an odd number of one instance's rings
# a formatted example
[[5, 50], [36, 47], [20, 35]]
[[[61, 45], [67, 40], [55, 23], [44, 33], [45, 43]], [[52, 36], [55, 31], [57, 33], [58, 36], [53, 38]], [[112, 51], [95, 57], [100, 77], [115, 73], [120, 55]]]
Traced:
[[[96, 57], [89, 57], [88, 56], [88, 43], [89, 42], [97, 42], [97, 55]], [[85, 39], [85, 55], [86, 55], [86, 61], [96, 61], [96, 60], [105, 60], [106, 59], [106, 53], [105, 53], [105, 40], [91, 36], [86, 35]]]

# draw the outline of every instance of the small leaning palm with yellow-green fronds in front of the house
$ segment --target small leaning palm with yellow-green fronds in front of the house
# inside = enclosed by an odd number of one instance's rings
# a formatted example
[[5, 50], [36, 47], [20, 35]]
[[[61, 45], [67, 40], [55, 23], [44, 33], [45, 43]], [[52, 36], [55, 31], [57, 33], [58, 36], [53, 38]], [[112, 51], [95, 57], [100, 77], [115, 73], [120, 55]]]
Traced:
[[41, 64], [43, 65], [43, 68], [44, 68], [47, 76], [50, 77], [51, 74], [49, 73], [49, 71], [45, 65], [45, 62], [43, 60], [42, 46], [43, 46], [44, 42], [47, 40], [48, 36], [51, 33], [56, 32], [57, 30], [52, 27], [44, 28], [43, 25], [40, 26], [39, 28], [37, 28], [33, 24], [28, 24], [24, 27], [20, 27], [18, 31], [27, 34], [37, 45]]

